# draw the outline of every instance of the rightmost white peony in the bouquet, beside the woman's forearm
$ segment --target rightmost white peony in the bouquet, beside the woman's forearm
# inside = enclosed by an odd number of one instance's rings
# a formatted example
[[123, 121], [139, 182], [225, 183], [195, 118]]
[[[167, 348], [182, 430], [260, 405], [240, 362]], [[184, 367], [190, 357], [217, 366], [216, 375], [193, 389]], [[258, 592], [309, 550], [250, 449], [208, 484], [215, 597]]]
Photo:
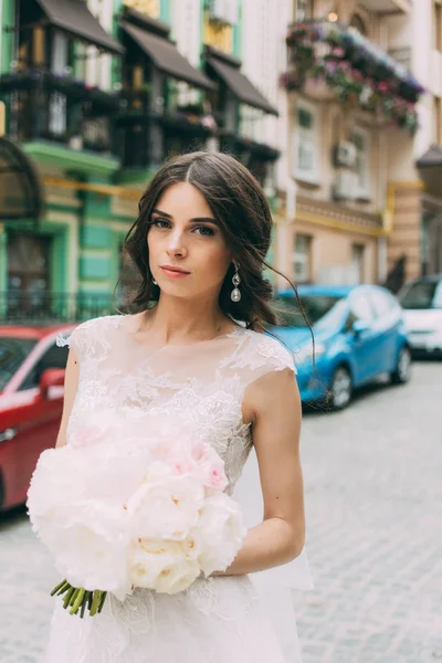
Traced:
[[245, 533], [236, 502], [224, 493], [207, 497], [198, 525], [190, 533], [198, 540], [198, 561], [206, 576], [213, 571], [224, 571], [232, 564]]

